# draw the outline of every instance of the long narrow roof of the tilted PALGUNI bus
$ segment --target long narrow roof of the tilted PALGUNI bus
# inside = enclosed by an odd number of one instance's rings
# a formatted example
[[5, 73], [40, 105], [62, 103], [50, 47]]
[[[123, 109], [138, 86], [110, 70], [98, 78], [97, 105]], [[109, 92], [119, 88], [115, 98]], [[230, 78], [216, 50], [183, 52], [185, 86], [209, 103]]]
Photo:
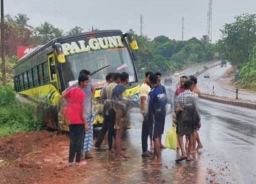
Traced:
[[122, 31], [121, 30], [88, 31], [88, 32], [77, 34], [77, 35], [62, 36], [62, 37], [59, 37], [59, 38], [55, 38], [55, 39], [49, 41], [45, 45], [37, 46], [33, 51], [31, 51], [31, 52], [27, 53], [25, 56], [21, 57], [21, 59], [19, 59], [17, 61], [16, 66], [20, 65], [21, 63], [23, 63], [24, 61], [26, 61], [30, 57], [36, 55], [38, 52], [43, 51], [44, 49], [48, 48], [49, 46], [52, 46], [56, 42], [65, 41], [65, 40], [69, 40], [69, 39], [72, 39], [72, 38], [79, 38], [79, 37], [85, 36], [85, 35], [90, 36], [90, 35], [100, 35], [100, 34], [115, 33], [115, 32], [116, 33], [121, 33]]

